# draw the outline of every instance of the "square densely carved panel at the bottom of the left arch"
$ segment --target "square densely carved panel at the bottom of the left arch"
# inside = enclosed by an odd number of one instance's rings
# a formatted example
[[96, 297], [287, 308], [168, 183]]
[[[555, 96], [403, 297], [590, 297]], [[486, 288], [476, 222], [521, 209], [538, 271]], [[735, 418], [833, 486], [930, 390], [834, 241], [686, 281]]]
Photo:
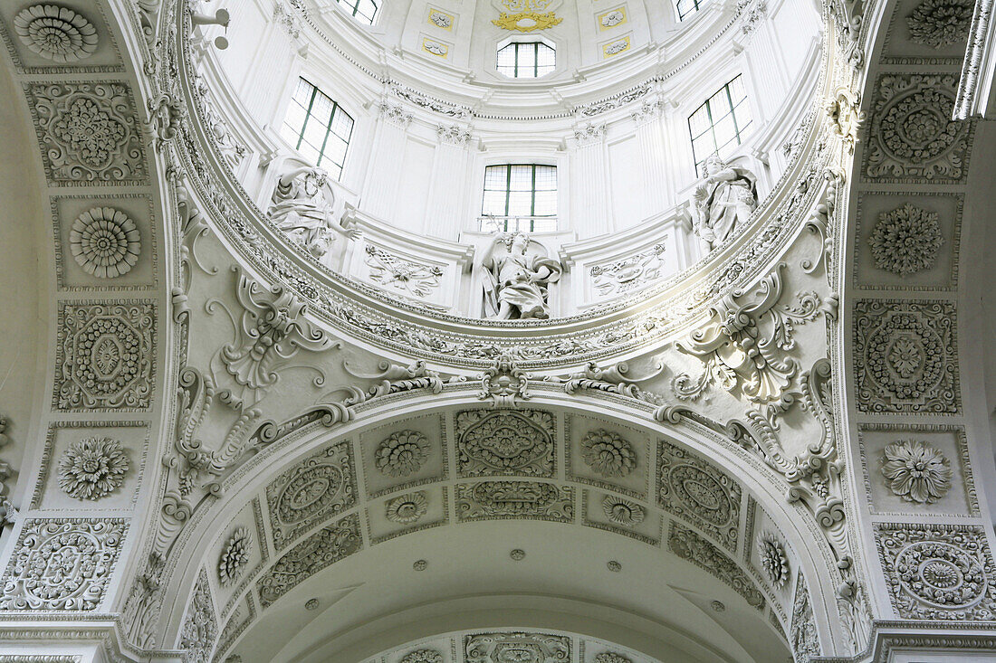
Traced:
[[0, 610], [96, 610], [126, 531], [122, 519], [28, 521], [4, 573]]

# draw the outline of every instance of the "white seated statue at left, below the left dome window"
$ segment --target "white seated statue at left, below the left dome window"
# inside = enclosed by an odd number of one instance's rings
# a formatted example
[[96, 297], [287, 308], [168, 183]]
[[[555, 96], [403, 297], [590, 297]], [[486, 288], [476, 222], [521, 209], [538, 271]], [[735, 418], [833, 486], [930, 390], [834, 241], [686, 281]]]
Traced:
[[329, 252], [336, 234], [346, 240], [361, 235], [359, 229], [344, 228], [336, 221], [332, 203], [323, 191], [327, 179], [325, 170], [313, 166], [285, 173], [277, 180], [268, 212], [277, 227], [316, 258]]

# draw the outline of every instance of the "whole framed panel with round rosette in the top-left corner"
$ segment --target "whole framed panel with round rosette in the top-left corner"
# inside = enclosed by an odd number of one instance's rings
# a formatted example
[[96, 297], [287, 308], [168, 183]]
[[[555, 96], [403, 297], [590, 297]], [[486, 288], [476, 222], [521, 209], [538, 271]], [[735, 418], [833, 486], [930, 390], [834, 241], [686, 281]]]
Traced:
[[15, 66], [29, 74], [124, 72], [100, 3], [0, 3], [0, 29]]

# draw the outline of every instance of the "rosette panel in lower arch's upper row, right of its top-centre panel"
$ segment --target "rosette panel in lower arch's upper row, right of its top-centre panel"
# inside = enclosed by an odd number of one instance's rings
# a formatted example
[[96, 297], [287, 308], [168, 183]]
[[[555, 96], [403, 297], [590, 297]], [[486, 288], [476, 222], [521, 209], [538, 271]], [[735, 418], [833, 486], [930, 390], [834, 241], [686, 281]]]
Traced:
[[568, 479], [646, 499], [650, 437], [596, 417], [566, 417]]

